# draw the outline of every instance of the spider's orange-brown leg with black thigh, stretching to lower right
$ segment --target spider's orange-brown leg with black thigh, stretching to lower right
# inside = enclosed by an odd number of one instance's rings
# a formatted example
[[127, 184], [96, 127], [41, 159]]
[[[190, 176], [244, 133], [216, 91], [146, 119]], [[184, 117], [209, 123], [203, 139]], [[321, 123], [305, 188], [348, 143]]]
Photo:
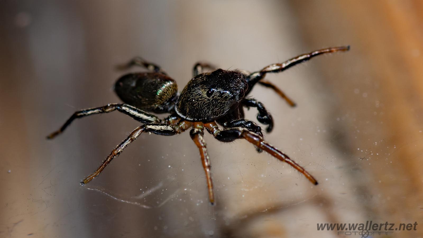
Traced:
[[264, 141], [263, 137], [258, 136], [255, 133], [242, 127], [233, 127], [221, 130], [215, 122], [207, 123], [204, 125], [204, 127], [206, 127], [206, 129], [209, 131], [209, 133], [214, 136], [214, 138], [222, 142], [231, 142], [236, 139], [242, 138], [246, 139], [251, 144], [254, 144], [260, 149], [263, 149], [278, 160], [290, 164], [292, 167], [304, 174], [304, 176], [307, 177], [307, 179], [310, 180], [311, 183], [317, 185], [316, 179], [311, 176], [311, 174], [309, 174], [305, 169], [303, 169], [301, 166], [291, 160], [288, 155], [284, 154], [276, 147], [273, 147], [271, 144]]

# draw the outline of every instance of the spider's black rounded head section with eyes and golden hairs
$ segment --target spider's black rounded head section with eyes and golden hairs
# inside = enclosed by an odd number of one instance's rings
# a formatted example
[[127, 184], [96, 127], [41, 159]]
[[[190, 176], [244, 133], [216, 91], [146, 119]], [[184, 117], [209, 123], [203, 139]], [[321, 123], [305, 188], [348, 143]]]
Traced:
[[217, 69], [192, 78], [176, 100], [175, 111], [189, 121], [214, 121], [235, 109], [247, 90], [242, 73]]

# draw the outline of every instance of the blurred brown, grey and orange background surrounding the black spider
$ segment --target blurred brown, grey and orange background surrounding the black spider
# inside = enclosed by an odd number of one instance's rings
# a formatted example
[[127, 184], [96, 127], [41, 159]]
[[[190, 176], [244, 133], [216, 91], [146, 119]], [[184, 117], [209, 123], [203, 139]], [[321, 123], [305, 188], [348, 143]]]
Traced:
[[[317, 223], [417, 221], [385, 237], [422, 237], [422, 12], [399, 0], [1, 1], [0, 236], [326, 238], [342, 236]], [[113, 112], [45, 139], [74, 111], [119, 102], [115, 66], [137, 55], [181, 90], [197, 61], [255, 71], [341, 45], [351, 50], [266, 77], [296, 108], [252, 93], [277, 122], [266, 140], [317, 186], [246, 141], [206, 135], [211, 206], [183, 133], [141, 135], [81, 187], [139, 123]]]

